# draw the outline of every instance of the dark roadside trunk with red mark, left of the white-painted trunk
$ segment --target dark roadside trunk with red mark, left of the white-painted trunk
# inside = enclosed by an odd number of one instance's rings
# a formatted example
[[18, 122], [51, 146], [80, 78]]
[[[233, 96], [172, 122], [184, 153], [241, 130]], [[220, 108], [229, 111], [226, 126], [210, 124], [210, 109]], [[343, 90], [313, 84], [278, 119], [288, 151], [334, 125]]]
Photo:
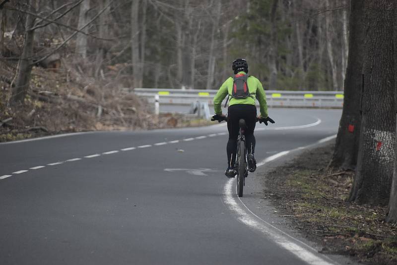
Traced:
[[343, 112], [339, 121], [336, 145], [330, 165], [355, 168], [360, 137], [362, 64], [364, 55], [364, 3], [351, 1], [349, 24], [349, 56], [344, 80]]

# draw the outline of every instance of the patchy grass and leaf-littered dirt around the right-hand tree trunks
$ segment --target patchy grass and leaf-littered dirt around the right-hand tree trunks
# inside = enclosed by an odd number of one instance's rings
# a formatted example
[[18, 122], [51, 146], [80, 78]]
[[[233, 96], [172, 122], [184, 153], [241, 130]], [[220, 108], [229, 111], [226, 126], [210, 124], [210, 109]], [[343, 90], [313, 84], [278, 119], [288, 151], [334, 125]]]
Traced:
[[397, 225], [384, 222], [386, 207], [346, 202], [354, 175], [328, 169], [332, 150], [330, 145], [306, 152], [266, 173], [264, 197], [281, 216], [292, 216], [293, 225], [324, 245], [324, 253], [397, 264]]

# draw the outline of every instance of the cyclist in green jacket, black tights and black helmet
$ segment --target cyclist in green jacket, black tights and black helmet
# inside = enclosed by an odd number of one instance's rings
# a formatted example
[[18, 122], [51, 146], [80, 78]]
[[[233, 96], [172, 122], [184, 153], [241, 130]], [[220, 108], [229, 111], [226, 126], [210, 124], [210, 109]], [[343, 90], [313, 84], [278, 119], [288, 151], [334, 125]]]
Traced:
[[[229, 140], [227, 142], [227, 169], [225, 175], [229, 178], [235, 176], [234, 163], [237, 152], [237, 137], [239, 135], [239, 120], [244, 119], [247, 124], [245, 131], [248, 169], [254, 172], [257, 168], [256, 160], [254, 158], [255, 152], [255, 136], [254, 129], [258, 119], [263, 119], [267, 125], [267, 121], [274, 122], [267, 115], [267, 103], [265, 91], [262, 83], [254, 76], [248, 76], [248, 63], [245, 59], [239, 58], [232, 62], [232, 69], [235, 76], [229, 77], [219, 88], [214, 98], [214, 119], [222, 120], [226, 116], [222, 113], [221, 104], [223, 99], [228, 96], [230, 99], [227, 116], [227, 130], [229, 131]], [[249, 96], [246, 98], [235, 97], [237, 78], [245, 78], [244, 91]], [[247, 90], [248, 87], [248, 90]], [[257, 107], [255, 106], [255, 98], [258, 99], [260, 104], [261, 114], [257, 117]], [[225, 104], [226, 106], [226, 104]]]

